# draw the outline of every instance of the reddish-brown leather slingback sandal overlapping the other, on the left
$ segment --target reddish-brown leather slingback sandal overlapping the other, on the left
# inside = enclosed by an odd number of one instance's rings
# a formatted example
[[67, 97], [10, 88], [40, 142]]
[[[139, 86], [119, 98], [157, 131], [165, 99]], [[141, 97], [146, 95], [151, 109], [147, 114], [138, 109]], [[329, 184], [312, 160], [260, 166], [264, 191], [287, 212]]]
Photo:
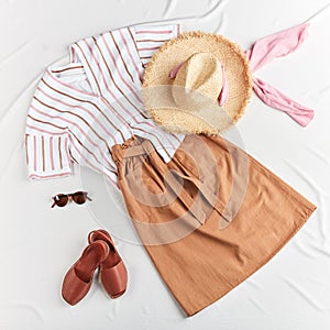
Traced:
[[106, 242], [92, 242], [68, 270], [63, 279], [62, 296], [69, 305], [76, 305], [87, 295], [95, 271], [108, 257], [109, 252]]

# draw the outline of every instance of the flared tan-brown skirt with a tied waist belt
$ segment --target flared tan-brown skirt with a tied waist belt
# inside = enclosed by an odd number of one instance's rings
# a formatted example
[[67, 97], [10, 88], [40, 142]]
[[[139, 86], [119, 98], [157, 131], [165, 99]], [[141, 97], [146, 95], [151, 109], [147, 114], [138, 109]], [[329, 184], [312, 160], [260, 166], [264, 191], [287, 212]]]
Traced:
[[220, 136], [187, 135], [167, 164], [139, 136], [112, 157], [136, 232], [188, 316], [268, 262], [316, 209]]

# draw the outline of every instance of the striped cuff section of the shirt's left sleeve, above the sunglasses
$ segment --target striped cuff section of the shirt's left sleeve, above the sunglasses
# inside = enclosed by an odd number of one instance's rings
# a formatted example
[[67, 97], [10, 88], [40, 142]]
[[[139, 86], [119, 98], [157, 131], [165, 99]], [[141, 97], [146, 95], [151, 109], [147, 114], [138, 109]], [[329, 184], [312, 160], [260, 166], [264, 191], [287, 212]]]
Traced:
[[30, 179], [50, 179], [70, 175], [72, 161], [66, 134], [26, 133], [25, 151]]

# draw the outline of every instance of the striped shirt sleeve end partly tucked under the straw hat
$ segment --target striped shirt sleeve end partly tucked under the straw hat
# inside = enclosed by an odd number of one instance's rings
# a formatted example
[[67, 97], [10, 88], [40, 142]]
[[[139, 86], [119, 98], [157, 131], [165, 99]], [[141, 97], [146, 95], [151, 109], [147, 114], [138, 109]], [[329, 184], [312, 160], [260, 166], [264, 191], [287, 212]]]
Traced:
[[136, 48], [143, 67], [146, 67], [151, 57], [160, 47], [170, 38], [182, 33], [180, 24], [167, 25], [139, 25], [135, 31]]

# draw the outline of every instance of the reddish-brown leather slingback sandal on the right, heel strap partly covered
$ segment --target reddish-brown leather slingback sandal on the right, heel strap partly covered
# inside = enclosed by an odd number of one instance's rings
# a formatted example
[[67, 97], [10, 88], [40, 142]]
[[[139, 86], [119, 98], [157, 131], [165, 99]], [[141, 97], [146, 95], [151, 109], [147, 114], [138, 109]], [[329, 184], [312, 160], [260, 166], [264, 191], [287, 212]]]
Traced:
[[88, 235], [88, 243], [103, 241], [109, 246], [108, 257], [100, 264], [100, 278], [105, 290], [111, 298], [122, 296], [128, 286], [127, 267], [114, 248], [110, 234], [102, 229], [94, 230]]

